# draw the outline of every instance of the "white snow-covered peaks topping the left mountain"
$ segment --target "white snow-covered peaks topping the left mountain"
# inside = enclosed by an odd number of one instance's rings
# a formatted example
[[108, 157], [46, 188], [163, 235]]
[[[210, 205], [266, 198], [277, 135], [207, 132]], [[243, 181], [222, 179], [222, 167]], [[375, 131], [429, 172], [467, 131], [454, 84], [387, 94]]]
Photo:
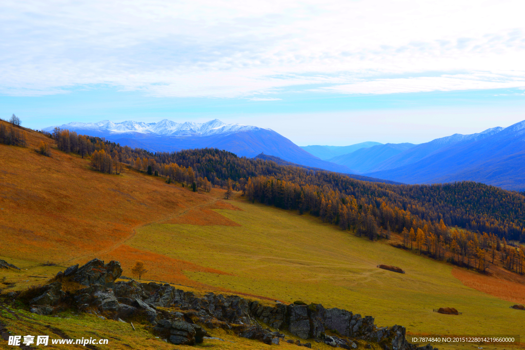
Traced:
[[[229, 134], [240, 131], [262, 130], [257, 126], [226, 124], [218, 119], [206, 123], [176, 123], [171, 120], [161, 120], [158, 123], [144, 123], [127, 120], [120, 123], [113, 123], [109, 120], [102, 120], [98, 123], [79, 123], [72, 122], [58, 126], [60, 129], [95, 131], [114, 134], [125, 133], [144, 133], [162, 136], [210, 136], [217, 134]], [[55, 126], [45, 128], [45, 131], [53, 131]], [[269, 130], [269, 129], [267, 129]]]

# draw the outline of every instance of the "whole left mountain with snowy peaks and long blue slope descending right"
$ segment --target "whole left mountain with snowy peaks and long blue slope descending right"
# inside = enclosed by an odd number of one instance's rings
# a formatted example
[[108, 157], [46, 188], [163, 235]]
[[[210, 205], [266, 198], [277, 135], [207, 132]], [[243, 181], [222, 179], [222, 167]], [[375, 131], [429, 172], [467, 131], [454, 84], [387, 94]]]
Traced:
[[[55, 126], [50, 126], [44, 130], [51, 132], [54, 128]], [[217, 119], [206, 123], [175, 123], [167, 119], [158, 123], [135, 121], [113, 123], [104, 120], [98, 123], [74, 122], [60, 125], [59, 128], [76, 131], [79, 134], [106, 137], [112, 142], [143, 148], [150, 152], [212, 147], [249, 158], [264, 152], [292, 163], [338, 173], [355, 173], [346, 166], [326, 162], [311, 155], [271, 129], [226, 124]]]

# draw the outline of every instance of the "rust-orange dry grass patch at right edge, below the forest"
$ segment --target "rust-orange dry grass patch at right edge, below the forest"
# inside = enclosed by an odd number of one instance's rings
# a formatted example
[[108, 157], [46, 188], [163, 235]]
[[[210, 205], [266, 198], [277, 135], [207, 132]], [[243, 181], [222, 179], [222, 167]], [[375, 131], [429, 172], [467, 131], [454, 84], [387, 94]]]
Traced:
[[513, 303], [525, 303], [525, 284], [455, 267], [452, 275], [467, 287]]

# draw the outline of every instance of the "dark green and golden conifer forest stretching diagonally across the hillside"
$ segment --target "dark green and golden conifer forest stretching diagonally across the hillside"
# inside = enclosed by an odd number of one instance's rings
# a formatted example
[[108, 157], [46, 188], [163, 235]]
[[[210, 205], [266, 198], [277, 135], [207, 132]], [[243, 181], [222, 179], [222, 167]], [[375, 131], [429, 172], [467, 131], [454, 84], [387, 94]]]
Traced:
[[370, 239], [396, 232], [404, 247], [480, 271], [497, 252], [508, 269], [523, 273], [523, 251], [512, 243], [525, 242], [522, 193], [469, 181], [366, 182], [218, 149], [151, 153], [58, 128], [48, 136], [61, 151], [90, 157], [97, 171], [118, 174], [125, 164], [193, 190], [214, 186], [229, 195], [235, 189], [251, 201], [310, 213]]

